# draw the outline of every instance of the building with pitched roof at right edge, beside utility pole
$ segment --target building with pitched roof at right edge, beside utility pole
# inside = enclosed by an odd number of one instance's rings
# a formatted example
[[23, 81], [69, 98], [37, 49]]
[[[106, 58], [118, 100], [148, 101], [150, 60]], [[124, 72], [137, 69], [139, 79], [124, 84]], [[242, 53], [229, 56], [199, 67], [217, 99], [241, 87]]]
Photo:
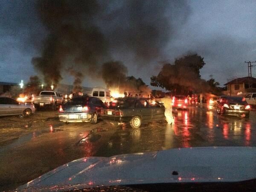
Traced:
[[239, 93], [256, 92], [256, 78], [236, 78], [224, 84], [227, 86], [227, 95], [237, 96]]

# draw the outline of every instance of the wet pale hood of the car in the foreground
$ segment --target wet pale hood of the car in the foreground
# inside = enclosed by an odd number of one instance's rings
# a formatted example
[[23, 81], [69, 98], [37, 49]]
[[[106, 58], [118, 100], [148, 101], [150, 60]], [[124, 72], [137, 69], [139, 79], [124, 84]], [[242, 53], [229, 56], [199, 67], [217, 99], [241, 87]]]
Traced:
[[19, 190], [58, 191], [142, 183], [236, 182], [256, 178], [255, 147], [176, 148], [64, 164]]

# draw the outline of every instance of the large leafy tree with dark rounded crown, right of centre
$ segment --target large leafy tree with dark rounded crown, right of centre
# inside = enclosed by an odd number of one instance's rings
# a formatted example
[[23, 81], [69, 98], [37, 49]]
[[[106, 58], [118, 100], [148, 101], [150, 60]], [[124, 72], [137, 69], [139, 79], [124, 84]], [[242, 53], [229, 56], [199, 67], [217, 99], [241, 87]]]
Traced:
[[200, 55], [186, 55], [176, 59], [174, 64], [164, 64], [157, 76], [151, 77], [151, 86], [162, 87], [175, 94], [208, 90], [206, 81], [201, 79], [200, 69], [205, 65]]

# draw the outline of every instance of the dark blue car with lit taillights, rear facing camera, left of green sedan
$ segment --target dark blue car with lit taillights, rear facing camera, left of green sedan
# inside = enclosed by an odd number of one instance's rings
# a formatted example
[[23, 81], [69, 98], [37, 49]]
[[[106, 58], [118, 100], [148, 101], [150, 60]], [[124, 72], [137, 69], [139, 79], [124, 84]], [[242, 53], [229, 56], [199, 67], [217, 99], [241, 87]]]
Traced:
[[91, 122], [96, 124], [104, 103], [90, 96], [76, 96], [59, 108], [59, 119], [63, 122]]

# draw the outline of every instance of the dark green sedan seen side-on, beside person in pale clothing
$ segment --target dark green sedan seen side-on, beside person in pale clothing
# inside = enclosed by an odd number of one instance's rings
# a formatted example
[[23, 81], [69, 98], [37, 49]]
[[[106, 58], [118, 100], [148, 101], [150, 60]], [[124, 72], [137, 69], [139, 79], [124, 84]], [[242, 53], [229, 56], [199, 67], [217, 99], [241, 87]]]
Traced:
[[139, 128], [144, 122], [164, 120], [164, 112], [163, 105], [146, 98], [117, 98], [103, 111], [102, 119], [130, 123], [132, 128]]

